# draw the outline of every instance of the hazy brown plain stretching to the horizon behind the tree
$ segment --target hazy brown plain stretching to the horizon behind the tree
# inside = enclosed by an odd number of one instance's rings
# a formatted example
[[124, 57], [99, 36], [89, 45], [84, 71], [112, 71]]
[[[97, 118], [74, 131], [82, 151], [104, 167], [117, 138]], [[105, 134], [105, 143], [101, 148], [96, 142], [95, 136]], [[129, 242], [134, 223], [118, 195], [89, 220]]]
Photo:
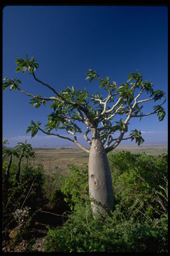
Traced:
[[[118, 151], [130, 151], [131, 153], [147, 153], [149, 155], [159, 155], [167, 151], [167, 145], [121, 145], [114, 149], [112, 153]], [[62, 171], [62, 174], [68, 171], [68, 165], [82, 165], [88, 162], [88, 153], [76, 147], [42, 147], [34, 149], [36, 155], [32, 163], [42, 163], [44, 171], [48, 173], [56, 170]]]

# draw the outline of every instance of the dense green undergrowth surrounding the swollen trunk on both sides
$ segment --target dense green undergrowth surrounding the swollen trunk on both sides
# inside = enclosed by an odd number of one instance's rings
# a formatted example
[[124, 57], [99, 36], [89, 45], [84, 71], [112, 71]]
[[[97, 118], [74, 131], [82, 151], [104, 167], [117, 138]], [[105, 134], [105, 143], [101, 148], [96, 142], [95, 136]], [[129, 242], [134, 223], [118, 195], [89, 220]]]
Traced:
[[[60, 207], [60, 195], [64, 195], [71, 213], [63, 225], [48, 229], [46, 252], [167, 252], [167, 154], [156, 158], [121, 151], [110, 153], [108, 159], [115, 207], [106, 219], [92, 215], [86, 163], [70, 165], [67, 177], [58, 177], [57, 172], [44, 175], [41, 165], [22, 165], [18, 187], [13, 163], [8, 184], [3, 179], [3, 229], [13, 220], [12, 213], [27, 206], [31, 208], [27, 221], [23, 220], [27, 232], [37, 199], [46, 198], [50, 205], [58, 201]], [[4, 162], [3, 174], [6, 167]], [[17, 219], [13, 223], [19, 226]]]

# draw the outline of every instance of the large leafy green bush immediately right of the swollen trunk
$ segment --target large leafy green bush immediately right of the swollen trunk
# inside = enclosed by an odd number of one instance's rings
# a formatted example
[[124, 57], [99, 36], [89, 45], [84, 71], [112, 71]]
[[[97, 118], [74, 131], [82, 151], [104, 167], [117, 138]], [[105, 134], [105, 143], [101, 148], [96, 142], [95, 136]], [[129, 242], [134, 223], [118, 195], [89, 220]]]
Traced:
[[161, 189], [167, 187], [167, 155], [156, 159], [121, 151], [108, 158], [116, 202], [127, 217], [151, 219], [167, 213], [167, 193]]

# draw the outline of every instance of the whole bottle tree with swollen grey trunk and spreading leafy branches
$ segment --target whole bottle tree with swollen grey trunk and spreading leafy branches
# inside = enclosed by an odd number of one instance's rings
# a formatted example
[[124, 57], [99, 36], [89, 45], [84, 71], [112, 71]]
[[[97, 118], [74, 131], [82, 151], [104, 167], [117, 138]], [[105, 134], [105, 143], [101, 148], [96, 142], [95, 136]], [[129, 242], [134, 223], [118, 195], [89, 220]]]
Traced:
[[[161, 90], [153, 90], [151, 81], [143, 81], [139, 71], [130, 73], [128, 81], [118, 86], [116, 82], [111, 82], [110, 77], [102, 79], [96, 71], [92, 69], [86, 73], [86, 79], [90, 83], [94, 79], [99, 82], [99, 89], [106, 90], [106, 97], [100, 93], [89, 95], [88, 91], [76, 90], [74, 87], [66, 87], [58, 92], [56, 87], [52, 87], [38, 79], [35, 71], [39, 67], [34, 57], [29, 59], [16, 60], [16, 72], [21, 71], [23, 74], [28, 69], [33, 75], [33, 79], [51, 91], [51, 97], [42, 97], [42, 95], [33, 95], [21, 89], [21, 80], [4, 79], [3, 89], [9, 87], [10, 90], [18, 90], [31, 97], [30, 104], [39, 108], [41, 105], [46, 106], [50, 102], [52, 112], [48, 115], [48, 121], [44, 128], [41, 122], [31, 121], [27, 133], [31, 131], [34, 137], [38, 131], [46, 135], [54, 135], [75, 143], [82, 150], [89, 153], [88, 163], [88, 182], [90, 199], [92, 199], [92, 210], [94, 213], [99, 211], [100, 214], [106, 215], [106, 209], [114, 207], [114, 193], [112, 187], [112, 177], [108, 163], [107, 154], [114, 150], [121, 141], [133, 139], [140, 145], [144, 139], [141, 137], [141, 131], [133, 129], [129, 135], [128, 125], [130, 119], [142, 119], [149, 115], [157, 114], [159, 121], [163, 121], [165, 110], [162, 105], [165, 103], [165, 93]], [[153, 111], [143, 113], [143, 104], [148, 101], [165, 100], [153, 106]], [[60, 130], [64, 129], [68, 135], [60, 135]], [[87, 149], [78, 142], [77, 134], [80, 133], [89, 143], [90, 149]]]

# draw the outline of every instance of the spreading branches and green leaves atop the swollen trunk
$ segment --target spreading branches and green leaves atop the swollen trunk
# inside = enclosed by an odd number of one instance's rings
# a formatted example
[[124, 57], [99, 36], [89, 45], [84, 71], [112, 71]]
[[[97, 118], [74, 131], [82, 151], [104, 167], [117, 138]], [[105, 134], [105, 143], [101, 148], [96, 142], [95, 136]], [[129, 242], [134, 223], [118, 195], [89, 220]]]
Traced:
[[[162, 105], [166, 101], [165, 93], [161, 90], [153, 90], [153, 83], [151, 81], [143, 80], [141, 73], [129, 73], [128, 80], [122, 85], [118, 85], [115, 81], [110, 81], [110, 77], [101, 78], [96, 71], [89, 69], [86, 73], [86, 79], [90, 79], [90, 83], [94, 79], [98, 79], [99, 89], [106, 90], [107, 96], [103, 97], [100, 93], [90, 95], [86, 88], [76, 90], [73, 86], [66, 87], [64, 90], [58, 92], [56, 88], [44, 83], [35, 76], [39, 64], [34, 57], [29, 59], [16, 59], [16, 72], [22, 71], [23, 74], [28, 69], [33, 78], [41, 85], [48, 87], [52, 92], [52, 97], [42, 97], [42, 95], [33, 95], [21, 89], [21, 80], [4, 78], [3, 89], [9, 87], [10, 90], [18, 90], [25, 95], [31, 97], [30, 104], [32, 107], [39, 108], [41, 105], [46, 105], [47, 101], [51, 102], [50, 109], [52, 112], [48, 115], [48, 122], [44, 129], [41, 128], [41, 122], [31, 121], [31, 125], [27, 128], [27, 133], [31, 132], [31, 137], [34, 137], [38, 131], [42, 131], [46, 135], [54, 135], [62, 139], [67, 139], [76, 143], [81, 149], [90, 152], [80, 143], [76, 134], [80, 133], [84, 139], [91, 145], [92, 139], [89, 133], [93, 127], [100, 133], [100, 138], [106, 149], [106, 153], [115, 149], [122, 140], [135, 140], [137, 145], [143, 143], [144, 139], [141, 137], [141, 131], [137, 129], [131, 130], [129, 137], [124, 137], [128, 132], [128, 125], [130, 119], [157, 114], [159, 121], [163, 121], [165, 117], [165, 109]], [[141, 95], [148, 95], [143, 99]], [[154, 103], [163, 99], [162, 103], [153, 106], [153, 111], [143, 113], [143, 104], [148, 101]], [[118, 117], [120, 119], [118, 120]], [[84, 129], [79, 125], [82, 123]], [[68, 136], [60, 135], [60, 130], [66, 130], [72, 139]], [[117, 133], [119, 135], [117, 135]], [[116, 133], [116, 135], [115, 135]]]

